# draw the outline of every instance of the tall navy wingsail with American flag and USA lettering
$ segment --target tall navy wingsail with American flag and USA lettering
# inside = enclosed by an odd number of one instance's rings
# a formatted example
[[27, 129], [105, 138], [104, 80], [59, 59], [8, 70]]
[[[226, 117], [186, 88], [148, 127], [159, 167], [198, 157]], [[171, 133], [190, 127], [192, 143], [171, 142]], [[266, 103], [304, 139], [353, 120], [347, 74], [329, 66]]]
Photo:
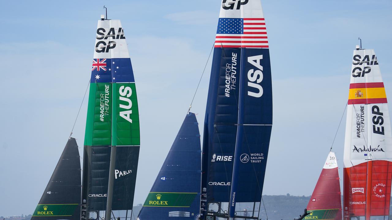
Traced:
[[258, 219], [272, 128], [260, 0], [222, 0], [204, 122], [203, 218]]

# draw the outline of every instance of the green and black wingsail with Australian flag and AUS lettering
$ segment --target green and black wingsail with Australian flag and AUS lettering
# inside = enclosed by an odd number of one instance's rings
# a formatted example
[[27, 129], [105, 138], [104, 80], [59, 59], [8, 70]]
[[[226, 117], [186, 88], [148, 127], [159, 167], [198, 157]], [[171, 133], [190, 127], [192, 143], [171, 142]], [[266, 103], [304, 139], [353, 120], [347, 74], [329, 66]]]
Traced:
[[82, 219], [129, 217], [140, 149], [136, 87], [120, 20], [98, 21], [83, 156]]

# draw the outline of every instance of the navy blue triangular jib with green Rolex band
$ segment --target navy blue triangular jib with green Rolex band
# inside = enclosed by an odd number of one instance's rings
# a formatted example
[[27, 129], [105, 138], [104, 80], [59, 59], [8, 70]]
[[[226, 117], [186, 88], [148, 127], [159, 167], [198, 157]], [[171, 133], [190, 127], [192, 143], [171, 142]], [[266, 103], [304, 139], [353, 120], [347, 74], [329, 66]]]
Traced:
[[196, 219], [200, 207], [201, 146], [196, 115], [187, 114], [138, 216]]

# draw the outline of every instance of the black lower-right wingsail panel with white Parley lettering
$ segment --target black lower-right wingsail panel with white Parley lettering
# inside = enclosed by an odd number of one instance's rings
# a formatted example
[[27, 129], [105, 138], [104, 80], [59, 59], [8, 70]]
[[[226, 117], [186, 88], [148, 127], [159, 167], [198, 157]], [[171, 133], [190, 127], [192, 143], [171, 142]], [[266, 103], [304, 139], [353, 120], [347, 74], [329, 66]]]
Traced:
[[117, 146], [112, 210], [131, 210], [140, 146]]

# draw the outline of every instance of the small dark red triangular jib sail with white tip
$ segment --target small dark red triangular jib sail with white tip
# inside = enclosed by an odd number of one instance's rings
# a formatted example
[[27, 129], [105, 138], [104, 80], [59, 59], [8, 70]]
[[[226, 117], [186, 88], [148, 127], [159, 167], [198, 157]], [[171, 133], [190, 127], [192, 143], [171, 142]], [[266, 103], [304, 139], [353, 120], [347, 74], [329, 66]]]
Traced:
[[323, 170], [307, 206], [305, 219], [341, 220], [341, 192], [338, 162], [334, 152], [328, 154]]

